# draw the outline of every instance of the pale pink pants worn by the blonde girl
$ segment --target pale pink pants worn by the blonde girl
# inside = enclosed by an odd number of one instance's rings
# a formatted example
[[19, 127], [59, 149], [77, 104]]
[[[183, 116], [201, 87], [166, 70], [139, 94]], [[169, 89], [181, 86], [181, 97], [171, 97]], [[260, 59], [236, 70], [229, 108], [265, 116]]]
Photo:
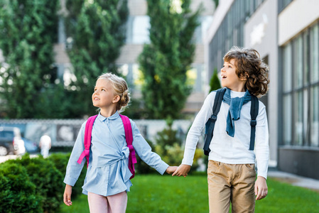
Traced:
[[107, 197], [88, 192], [87, 200], [91, 213], [125, 213], [126, 211], [126, 191]]

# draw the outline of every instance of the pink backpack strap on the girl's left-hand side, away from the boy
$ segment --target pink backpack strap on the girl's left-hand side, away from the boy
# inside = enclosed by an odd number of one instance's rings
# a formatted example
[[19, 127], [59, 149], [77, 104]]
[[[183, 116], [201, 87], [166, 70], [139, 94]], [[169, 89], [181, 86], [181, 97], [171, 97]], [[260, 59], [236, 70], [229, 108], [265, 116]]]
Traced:
[[80, 155], [79, 160], [77, 163], [82, 163], [83, 158], [87, 158], [87, 167], [89, 166], [89, 159], [90, 159], [90, 146], [91, 146], [91, 137], [92, 137], [92, 128], [97, 115], [91, 116], [87, 119], [87, 124], [85, 124], [85, 134], [84, 134], [84, 146], [85, 150]]

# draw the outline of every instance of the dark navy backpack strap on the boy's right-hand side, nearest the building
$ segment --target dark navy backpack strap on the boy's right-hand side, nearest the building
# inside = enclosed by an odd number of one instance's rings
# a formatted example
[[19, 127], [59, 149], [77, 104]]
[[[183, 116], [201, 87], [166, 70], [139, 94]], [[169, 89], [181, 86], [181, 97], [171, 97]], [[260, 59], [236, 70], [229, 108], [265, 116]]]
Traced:
[[259, 111], [259, 100], [256, 96], [252, 94], [252, 107], [250, 107], [250, 126], [251, 126], [251, 131], [250, 131], [250, 145], [249, 145], [249, 150], [254, 150], [255, 146], [255, 133], [256, 133], [256, 125], [257, 121], [256, 118], [258, 116], [258, 111]]

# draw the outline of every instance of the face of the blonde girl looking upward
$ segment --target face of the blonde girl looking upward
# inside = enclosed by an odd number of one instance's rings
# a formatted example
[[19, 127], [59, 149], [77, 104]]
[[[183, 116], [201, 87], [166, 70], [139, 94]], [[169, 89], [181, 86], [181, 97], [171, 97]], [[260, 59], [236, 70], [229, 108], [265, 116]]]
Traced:
[[117, 107], [119, 96], [114, 94], [114, 89], [109, 80], [98, 79], [92, 94], [92, 102], [94, 107], [99, 107], [101, 110]]

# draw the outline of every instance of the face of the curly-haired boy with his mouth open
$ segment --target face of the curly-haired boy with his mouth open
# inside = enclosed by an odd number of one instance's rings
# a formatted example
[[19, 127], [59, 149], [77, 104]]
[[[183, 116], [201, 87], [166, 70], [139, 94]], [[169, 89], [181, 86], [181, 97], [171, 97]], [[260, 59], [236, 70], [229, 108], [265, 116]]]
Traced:
[[246, 80], [239, 79], [236, 74], [236, 69], [234, 59], [229, 60], [229, 62], [224, 62], [220, 70], [222, 75], [222, 87], [227, 87], [237, 92], [244, 92]]

